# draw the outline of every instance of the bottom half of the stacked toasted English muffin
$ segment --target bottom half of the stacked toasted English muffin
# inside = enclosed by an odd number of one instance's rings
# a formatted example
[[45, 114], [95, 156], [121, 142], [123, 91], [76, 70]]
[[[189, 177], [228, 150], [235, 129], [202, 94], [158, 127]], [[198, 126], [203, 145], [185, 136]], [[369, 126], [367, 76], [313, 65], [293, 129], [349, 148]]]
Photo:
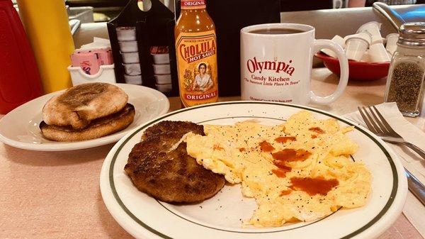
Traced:
[[70, 126], [48, 125], [40, 123], [42, 135], [54, 141], [82, 141], [100, 138], [127, 128], [135, 118], [135, 107], [127, 104], [124, 109], [103, 118], [97, 118], [84, 129]]

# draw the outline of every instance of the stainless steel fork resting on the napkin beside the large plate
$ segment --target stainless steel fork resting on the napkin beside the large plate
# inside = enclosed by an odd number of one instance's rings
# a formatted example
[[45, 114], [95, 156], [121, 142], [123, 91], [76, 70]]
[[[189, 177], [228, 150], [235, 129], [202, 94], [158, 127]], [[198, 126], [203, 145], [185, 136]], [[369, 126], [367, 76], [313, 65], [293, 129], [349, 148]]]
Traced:
[[385, 142], [406, 145], [425, 160], [425, 151], [421, 150], [416, 145], [407, 142], [402, 138], [402, 136], [396, 133], [387, 123], [387, 121], [385, 121], [385, 118], [381, 115], [375, 106], [368, 106], [367, 109], [369, 111], [367, 111], [365, 107], [358, 107], [358, 111], [360, 112], [363, 121], [365, 121], [366, 126], [368, 126], [370, 131], [375, 133], [375, 135], [378, 135]]

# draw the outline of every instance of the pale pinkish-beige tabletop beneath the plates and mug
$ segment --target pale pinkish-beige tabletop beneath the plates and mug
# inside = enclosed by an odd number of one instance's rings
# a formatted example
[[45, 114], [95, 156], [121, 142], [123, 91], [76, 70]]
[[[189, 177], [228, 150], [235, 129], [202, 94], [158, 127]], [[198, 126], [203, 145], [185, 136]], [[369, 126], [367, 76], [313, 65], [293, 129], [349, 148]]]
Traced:
[[[327, 69], [314, 70], [312, 78], [317, 94], [336, 87], [337, 78]], [[349, 82], [340, 99], [317, 108], [348, 113], [358, 105], [381, 103], [384, 90], [385, 79]], [[170, 104], [170, 111], [179, 109], [179, 98], [170, 98]], [[425, 113], [408, 120], [425, 131]], [[131, 238], [106, 210], [99, 189], [101, 166], [112, 147], [35, 152], [0, 143], [0, 238]], [[421, 235], [401, 215], [380, 238]]]

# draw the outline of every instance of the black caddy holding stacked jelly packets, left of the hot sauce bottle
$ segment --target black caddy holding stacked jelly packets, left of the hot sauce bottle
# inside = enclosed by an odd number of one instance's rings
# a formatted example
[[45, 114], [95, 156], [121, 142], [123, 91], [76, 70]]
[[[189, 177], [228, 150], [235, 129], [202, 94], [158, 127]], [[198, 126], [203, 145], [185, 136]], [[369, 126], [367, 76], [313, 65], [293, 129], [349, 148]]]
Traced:
[[179, 96], [179, 79], [177, 77], [176, 51], [174, 47], [174, 13], [164, 6], [161, 1], [150, 1], [152, 3], [151, 8], [147, 11], [142, 11], [137, 5], [137, 0], [130, 0], [123, 11], [107, 24], [115, 62], [115, 77], [118, 83], [125, 83], [125, 69], [116, 28], [135, 27], [142, 85], [156, 88], [152, 66], [154, 62], [150, 54], [150, 48], [151, 46], [166, 45], [169, 47], [172, 89], [164, 94], [166, 96]]

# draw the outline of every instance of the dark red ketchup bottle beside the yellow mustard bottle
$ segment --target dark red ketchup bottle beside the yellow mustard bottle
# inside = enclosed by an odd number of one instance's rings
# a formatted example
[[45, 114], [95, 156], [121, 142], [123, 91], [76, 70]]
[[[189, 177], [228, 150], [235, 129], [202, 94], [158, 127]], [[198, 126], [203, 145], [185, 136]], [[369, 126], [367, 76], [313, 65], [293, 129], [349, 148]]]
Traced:
[[0, 114], [42, 95], [40, 74], [11, 0], [0, 0]]

